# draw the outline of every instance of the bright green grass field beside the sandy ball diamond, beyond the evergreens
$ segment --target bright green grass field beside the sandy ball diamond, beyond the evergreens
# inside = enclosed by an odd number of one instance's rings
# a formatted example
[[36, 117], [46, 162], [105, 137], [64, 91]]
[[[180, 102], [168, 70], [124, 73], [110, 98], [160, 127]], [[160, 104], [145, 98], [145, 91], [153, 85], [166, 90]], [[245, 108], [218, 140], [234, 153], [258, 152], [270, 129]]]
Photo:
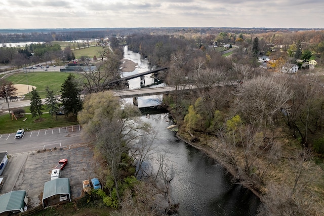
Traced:
[[[54, 91], [55, 95], [60, 94], [61, 86], [69, 73], [63, 72], [32, 72], [32, 73], [15, 73], [8, 75], [5, 79], [13, 84], [25, 84], [36, 86], [36, 90], [41, 98], [46, 97], [45, 88], [48, 86], [50, 90]], [[78, 74], [74, 74], [75, 78], [80, 78]], [[31, 91], [31, 88], [30, 88]], [[29, 99], [30, 95], [26, 92], [26, 99]]]

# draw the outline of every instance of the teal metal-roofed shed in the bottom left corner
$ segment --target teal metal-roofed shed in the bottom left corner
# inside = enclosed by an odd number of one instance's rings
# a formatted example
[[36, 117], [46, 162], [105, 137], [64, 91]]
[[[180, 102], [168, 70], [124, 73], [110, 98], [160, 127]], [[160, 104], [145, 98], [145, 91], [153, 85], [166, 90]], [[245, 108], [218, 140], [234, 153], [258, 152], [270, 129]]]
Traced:
[[0, 196], [0, 214], [4, 212], [23, 212], [27, 210], [26, 191], [11, 191]]

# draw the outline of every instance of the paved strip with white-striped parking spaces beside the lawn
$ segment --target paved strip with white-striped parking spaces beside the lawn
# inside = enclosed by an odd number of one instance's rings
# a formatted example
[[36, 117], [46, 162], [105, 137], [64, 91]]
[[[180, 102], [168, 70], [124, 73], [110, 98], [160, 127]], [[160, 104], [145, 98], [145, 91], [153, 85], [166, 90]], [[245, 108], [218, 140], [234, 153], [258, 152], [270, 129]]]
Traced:
[[79, 125], [50, 128], [42, 130], [27, 130], [22, 138], [16, 139], [15, 133], [0, 134], [0, 152], [17, 154], [33, 150], [68, 147], [76, 143], [85, 143]]

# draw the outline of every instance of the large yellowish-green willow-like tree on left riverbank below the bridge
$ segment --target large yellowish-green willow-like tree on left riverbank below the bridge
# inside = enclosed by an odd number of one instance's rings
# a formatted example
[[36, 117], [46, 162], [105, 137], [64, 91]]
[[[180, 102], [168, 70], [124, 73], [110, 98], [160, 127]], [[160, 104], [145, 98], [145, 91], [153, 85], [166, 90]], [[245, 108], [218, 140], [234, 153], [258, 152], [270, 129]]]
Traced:
[[133, 106], [121, 109], [119, 99], [108, 91], [88, 95], [83, 110], [78, 114], [78, 121], [93, 138], [95, 148], [108, 165], [110, 176], [106, 176], [107, 187], [110, 199], [114, 199], [114, 194], [116, 196], [115, 207], [121, 203], [123, 190], [119, 189], [120, 178], [125, 173], [123, 167], [127, 165], [128, 152], [138, 143], [137, 138], [143, 140], [149, 131], [148, 125], [138, 121], [138, 115], [139, 111]]

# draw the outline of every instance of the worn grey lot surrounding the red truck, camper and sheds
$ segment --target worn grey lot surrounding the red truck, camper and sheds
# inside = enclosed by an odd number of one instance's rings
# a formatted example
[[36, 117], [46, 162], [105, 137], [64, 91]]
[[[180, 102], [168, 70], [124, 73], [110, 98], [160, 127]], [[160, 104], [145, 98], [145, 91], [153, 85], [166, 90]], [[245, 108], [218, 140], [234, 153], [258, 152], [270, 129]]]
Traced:
[[86, 144], [11, 155], [3, 173], [5, 184], [0, 193], [25, 190], [29, 207], [41, 205], [44, 184], [51, 180], [52, 169], [60, 159], [68, 159], [61, 177], [70, 179], [72, 199], [82, 196], [82, 181], [97, 177], [93, 151]]

